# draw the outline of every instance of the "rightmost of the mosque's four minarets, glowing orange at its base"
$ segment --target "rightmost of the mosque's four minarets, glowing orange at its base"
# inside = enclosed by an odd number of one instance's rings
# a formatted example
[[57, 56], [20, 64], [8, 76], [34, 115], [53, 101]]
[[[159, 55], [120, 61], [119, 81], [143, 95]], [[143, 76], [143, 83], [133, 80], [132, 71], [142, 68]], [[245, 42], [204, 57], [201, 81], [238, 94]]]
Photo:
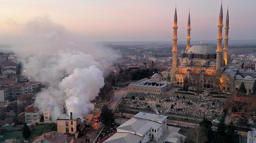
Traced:
[[227, 16], [225, 24], [225, 38], [224, 38], [224, 48], [223, 48], [223, 59], [225, 60], [225, 65], [227, 66], [227, 55], [228, 55], [228, 29], [229, 29], [229, 17], [228, 17], [228, 7]]

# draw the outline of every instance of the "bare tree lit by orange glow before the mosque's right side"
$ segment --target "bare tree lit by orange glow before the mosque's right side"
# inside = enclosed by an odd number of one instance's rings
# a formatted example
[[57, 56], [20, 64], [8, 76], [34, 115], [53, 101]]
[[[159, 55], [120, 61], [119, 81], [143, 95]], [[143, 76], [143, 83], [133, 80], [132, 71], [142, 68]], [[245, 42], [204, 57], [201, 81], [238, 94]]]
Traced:
[[212, 78], [214, 87], [218, 91], [219, 96], [220, 96], [221, 86], [230, 83], [230, 79], [228, 77], [221, 76], [221, 73], [222, 73], [222, 70], [216, 70]]

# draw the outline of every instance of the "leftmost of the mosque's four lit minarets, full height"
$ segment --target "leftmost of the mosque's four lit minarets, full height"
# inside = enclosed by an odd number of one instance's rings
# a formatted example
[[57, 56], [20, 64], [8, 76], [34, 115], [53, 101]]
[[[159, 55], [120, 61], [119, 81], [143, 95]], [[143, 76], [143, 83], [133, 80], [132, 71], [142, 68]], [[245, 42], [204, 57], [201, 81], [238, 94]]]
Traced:
[[176, 73], [176, 69], [177, 69], [177, 29], [178, 29], [178, 19], [177, 19], [177, 10], [176, 10], [176, 6], [175, 6], [175, 14], [174, 14], [174, 21], [173, 21], [173, 64], [172, 64], [172, 81], [175, 81], [175, 73]]

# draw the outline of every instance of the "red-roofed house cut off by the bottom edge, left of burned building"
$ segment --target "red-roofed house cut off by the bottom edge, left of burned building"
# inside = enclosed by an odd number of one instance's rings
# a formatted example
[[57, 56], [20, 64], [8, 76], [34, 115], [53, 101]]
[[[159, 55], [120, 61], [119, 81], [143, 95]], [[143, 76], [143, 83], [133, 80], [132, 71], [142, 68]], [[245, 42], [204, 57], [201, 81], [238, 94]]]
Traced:
[[73, 143], [73, 138], [56, 131], [52, 131], [36, 137], [33, 143]]

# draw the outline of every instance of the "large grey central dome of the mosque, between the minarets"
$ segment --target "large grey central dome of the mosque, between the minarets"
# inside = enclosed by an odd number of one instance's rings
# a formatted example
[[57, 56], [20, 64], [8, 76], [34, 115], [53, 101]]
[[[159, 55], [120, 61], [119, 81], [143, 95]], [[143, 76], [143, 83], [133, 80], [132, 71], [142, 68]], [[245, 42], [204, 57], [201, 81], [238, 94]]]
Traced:
[[216, 50], [208, 44], [195, 44], [189, 50], [188, 53], [216, 53]]

